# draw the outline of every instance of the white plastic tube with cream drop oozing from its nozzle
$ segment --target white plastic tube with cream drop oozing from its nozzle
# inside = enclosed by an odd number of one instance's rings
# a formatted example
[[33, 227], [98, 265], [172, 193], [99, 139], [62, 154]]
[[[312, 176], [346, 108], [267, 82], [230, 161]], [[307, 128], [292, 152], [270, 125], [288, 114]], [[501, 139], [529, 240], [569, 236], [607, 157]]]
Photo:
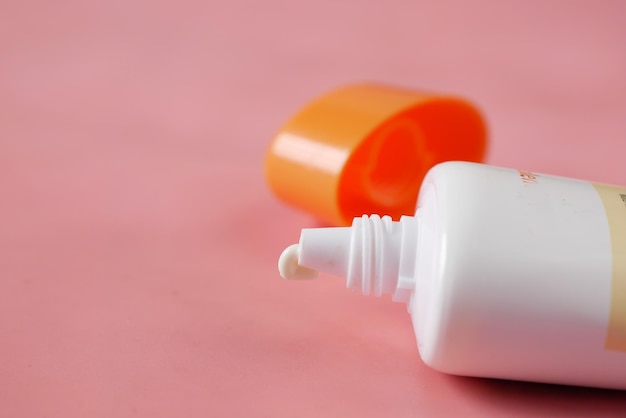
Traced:
[[446, 162], [415, 216], [303, 229], [287, 279], [405, 302], [445, 373], [626, 389], [626, 188]]

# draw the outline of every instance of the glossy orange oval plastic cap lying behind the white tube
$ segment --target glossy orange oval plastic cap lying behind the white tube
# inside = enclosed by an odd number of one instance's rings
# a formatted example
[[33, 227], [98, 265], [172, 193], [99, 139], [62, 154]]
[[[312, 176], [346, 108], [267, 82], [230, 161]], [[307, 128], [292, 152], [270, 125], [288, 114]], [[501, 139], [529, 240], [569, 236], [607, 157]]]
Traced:
[[285, 202], [330, 224], [363, 214], [412, 215], [435, 164], [480, 161], [480, 113], [454, 97], [379, 84], [332, 91], [274, 137], [265, 160], [270, 187]]

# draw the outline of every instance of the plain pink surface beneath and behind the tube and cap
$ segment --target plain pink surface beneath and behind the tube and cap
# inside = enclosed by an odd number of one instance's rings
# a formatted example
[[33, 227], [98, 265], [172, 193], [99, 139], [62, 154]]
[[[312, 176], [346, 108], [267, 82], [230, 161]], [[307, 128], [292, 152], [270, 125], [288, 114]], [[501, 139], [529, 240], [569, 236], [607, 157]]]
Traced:
[[316, 223], [263, 152], [347, 82], [463, 95], [489, 162], [626, 184], [626, 3], [527, 3], [3, 2], [0, 415], [623, 416], [431, 371], [403, 306], [276, 271]]

